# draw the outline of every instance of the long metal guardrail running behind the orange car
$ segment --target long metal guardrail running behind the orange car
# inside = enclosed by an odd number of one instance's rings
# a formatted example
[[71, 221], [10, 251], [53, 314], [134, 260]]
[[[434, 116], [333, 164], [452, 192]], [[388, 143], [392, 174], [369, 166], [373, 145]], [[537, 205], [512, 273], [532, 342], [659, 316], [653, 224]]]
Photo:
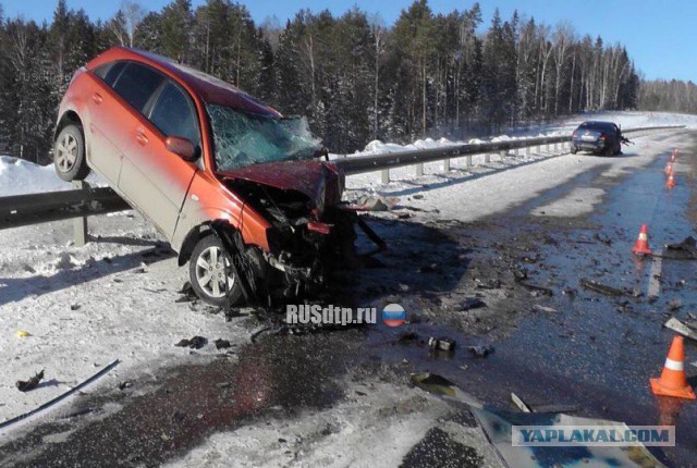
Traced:
[[[684, 125], [639, 127], [626, 130], [623, 133], [636, 134], [684, 127]], [[564, 145], [570, 141], [571, 136], [524, 138], [376, 156], [350, 158], [344, 156], [333, 162], [340, 165], [348, 175], [382, 171], [382, 182], [388, 183], [390, 180], [389, 171], [392, 168], [416, 165], [416, 175], [420, 176], [424, 174], [424, 163], [426, 162], [444, 161], [443, 169], [448, 170], [450, 169], [450, 159], [454, 158], [472, 158], [473, 155], [485, 155], [486, 161], [489, 162], [492, 153], [498, 152], [501, 156], [505, 156], [510, 150], [517, 152], [522, 148], [525, 148], [529, 153], [531, 148], [541, 146], [547, 146], [549, 151], [550, 145], [557, 147], [560, 144]], [[467, 164], [472, 165], [472, 159], [468, 159]], [[73, 219], [75, 220], [75, 244], [84, 245], [87, 241], [87, 217], [131, 209], [129, 204], [111, 188], [93, 188], [84, 182], [74, 182], [73, 184], [78, 189], [0, 197], [0, 230]]]

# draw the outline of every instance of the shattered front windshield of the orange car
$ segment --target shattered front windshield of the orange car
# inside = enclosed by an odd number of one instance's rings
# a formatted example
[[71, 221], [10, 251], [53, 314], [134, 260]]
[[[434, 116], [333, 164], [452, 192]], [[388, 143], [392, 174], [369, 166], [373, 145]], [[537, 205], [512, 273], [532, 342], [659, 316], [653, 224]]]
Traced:
[[276, 118], [207, 104], [216, 167], [229, 171], [260, 162], [310, 159], [321, 147], [305, 118]]

